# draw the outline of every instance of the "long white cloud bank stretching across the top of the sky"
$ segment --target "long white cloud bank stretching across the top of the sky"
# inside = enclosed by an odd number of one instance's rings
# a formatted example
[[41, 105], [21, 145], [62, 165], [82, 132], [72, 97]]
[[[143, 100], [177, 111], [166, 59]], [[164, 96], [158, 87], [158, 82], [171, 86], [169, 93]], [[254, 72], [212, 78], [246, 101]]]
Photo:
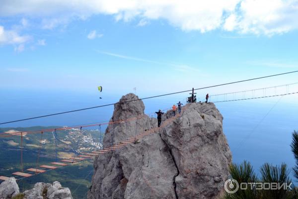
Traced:
[[273, 35], [298, 29], [298, 0], [5, 0], [0, 6], [0, 16], [42, 17], [46, 29], [94, 14], [142, 18], [141, 26], [165, 19], [185, 31]]

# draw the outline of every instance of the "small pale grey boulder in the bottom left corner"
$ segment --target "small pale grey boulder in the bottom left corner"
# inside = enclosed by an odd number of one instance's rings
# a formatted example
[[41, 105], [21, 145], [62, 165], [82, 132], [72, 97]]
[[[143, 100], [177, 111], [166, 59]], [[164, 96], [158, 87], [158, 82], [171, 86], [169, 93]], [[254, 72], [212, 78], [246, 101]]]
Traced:
[[19, 187], [15, 178], [11, 177], [0, 184], [0, 199], [11, 199], [19, 194]]

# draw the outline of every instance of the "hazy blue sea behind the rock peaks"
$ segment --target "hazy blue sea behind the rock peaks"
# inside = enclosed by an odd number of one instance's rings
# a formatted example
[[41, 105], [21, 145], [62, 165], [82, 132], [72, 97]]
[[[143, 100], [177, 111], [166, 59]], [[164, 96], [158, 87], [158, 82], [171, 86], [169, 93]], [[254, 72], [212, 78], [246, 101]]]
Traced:
[[[117, 102], [122, 96], [121, 94], [100, 96], [98, 93], [81, 91], [1, 90], [0, 93], [0, 123], [109, 104]], [[185, 103], [186, 96], [144, 100], [145, 113], [153, 116], [153, 112], [170, 108], [180, 99]], [[298, 129], [298, 103], [289, 102], [286, 96], [270, 100], [239, 100], [215, 104], [224, 117], [223, 129], [232, 152], [233, 163], [249, 161], [257, 174], [264, 163], [273, 165], [286, 163], [292, 171], [295, 159], [290, 144], [292, 132]], [[110, 120], [113, 109], [113, 105], [104, 106], [1, 124], [0, 127], [79, 126], [105, 122]], [[292, 172], [290, 176], [294, 181]]]

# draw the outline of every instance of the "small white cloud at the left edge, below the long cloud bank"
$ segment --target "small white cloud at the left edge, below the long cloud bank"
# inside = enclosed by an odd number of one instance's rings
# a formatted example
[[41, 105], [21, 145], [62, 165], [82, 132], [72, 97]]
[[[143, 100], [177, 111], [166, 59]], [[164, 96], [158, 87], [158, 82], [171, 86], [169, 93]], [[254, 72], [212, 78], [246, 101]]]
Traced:
[[0, 26], [0, 45], [5, 44], [22, 44], [30, 40], [30, 36], [20, 36], [14, 30], [5, 30], [3, 26]]

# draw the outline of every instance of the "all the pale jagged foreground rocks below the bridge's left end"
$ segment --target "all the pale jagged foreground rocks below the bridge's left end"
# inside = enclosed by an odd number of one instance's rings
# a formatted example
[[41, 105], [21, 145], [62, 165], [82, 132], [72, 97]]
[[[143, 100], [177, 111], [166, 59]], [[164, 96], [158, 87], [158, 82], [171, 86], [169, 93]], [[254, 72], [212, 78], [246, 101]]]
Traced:
[[[19, 187], [15, 179], [9, 178], [0, 185], [0, 199], [11, 199], [18, 196]], [[36, 183], [34, 188], [21, 194], [22, 199], [73, 199], [69, 188], [63, 188], [59, 182]]]

